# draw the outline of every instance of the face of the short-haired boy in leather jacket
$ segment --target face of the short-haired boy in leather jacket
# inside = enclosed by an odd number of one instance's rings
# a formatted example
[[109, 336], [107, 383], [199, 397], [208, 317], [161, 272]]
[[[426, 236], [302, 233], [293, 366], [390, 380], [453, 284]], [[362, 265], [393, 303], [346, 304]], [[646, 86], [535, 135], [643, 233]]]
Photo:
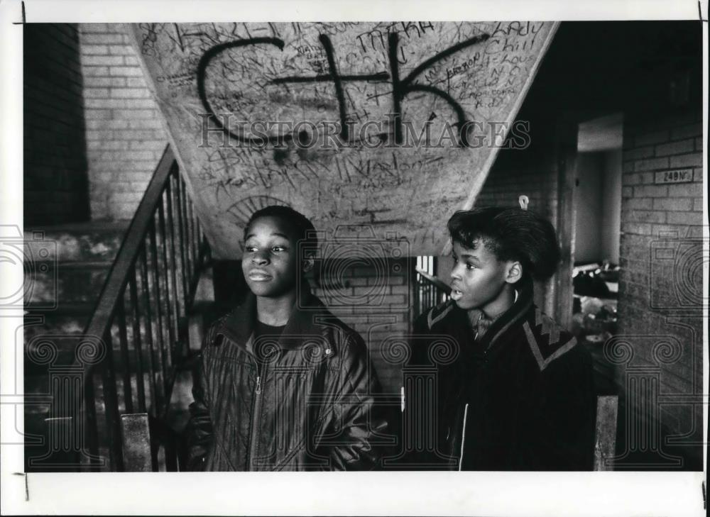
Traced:
[[293, 231], [280, 218], [260, 217], [247, 228], [241, 269], [253, 294], [290, 294], [296, 288], [298, 264]]

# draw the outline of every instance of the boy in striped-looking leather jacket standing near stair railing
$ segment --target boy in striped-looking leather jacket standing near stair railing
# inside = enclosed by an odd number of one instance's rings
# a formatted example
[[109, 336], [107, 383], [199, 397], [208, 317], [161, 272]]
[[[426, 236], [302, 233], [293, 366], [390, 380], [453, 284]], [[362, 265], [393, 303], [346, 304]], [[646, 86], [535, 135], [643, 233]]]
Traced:
[[[388, 422], [358, 333], [299, 275], [313, 226], [285, 206], [251, 216], [241, 265], [251, 293], [209, 328], [190, 405], [190, 469], [379, 467]], [[299, 241], [308, 246], [299, 246]], [[386, 438], [385, 438], [386, 440]]]

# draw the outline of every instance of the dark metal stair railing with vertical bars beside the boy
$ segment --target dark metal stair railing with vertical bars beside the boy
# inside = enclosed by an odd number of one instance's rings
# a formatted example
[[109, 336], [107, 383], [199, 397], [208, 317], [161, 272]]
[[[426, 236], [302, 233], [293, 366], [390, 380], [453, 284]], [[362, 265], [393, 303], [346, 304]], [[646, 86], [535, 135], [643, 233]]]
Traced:
[[[94, 351], [102, 359], [84, 368], [84, 435], [94, 458], [108, 453], [111, 470], [131, 469], [124, 465], [131, 455], [122, 439], [129, 432], [124, 417], [146, 413], [165, 422], [178, 365], [189, 349], [187, 315], [207, 260], [209, 245], [168, 145], [84, 333], [102, 347]], [[165, 468], [177, 470], [177, 445], [163, 452]], [[89, 462], [89, 468], [98, 467]]]

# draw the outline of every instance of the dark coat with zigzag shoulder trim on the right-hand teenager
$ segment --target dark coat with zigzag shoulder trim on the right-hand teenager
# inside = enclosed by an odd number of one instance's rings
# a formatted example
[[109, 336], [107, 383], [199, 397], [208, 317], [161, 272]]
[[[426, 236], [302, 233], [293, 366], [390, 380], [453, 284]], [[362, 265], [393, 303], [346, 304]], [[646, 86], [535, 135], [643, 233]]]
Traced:
[[[436, 362], [432, 352], [443, 345], [441, 336], [457, 350], [449, 353], [455, 360], [437, 365], [438, 418], [430, 427], [435, 436], [428, 438], [436, 447], [420, 447], [424, 450], [410, 455], [413, 467], [592, 468], [596, 395], [591, 357], [532, 303], [532, 284], [523, 287], [515, 304], [479, 341], [469, 315], [452, 301], [417, 318], [414, 334], [415, 365]], [[408, 411], [427, 418], [421, 408]]]

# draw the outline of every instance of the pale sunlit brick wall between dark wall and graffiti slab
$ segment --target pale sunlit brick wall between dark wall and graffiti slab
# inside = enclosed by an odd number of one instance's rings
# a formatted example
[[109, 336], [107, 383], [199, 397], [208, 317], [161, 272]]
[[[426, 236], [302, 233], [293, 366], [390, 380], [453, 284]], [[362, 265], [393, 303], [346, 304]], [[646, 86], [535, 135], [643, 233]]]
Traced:
[[130, 219], [168, 136], [120, 26], [80, 24], [92, 219]]

